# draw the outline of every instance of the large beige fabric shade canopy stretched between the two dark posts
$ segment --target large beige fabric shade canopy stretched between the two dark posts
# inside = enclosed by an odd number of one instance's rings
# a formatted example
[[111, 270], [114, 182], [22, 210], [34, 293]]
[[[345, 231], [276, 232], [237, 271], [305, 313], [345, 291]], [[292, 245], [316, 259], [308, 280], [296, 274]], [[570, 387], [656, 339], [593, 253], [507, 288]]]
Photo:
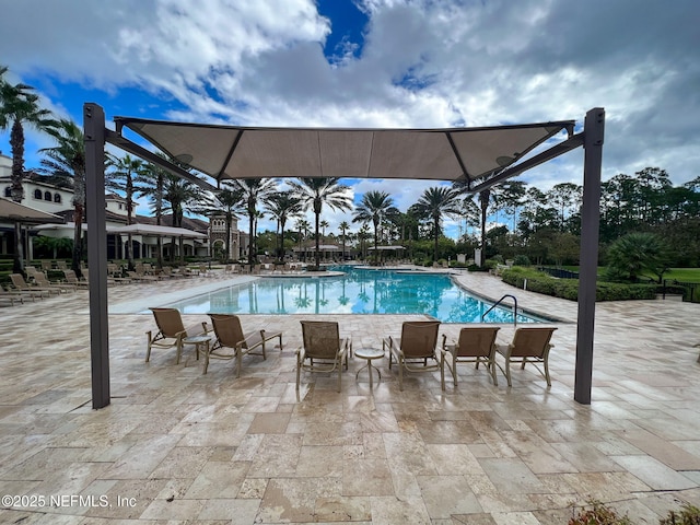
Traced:
[[260, 177], [482, 179], [574, 120], [445, 129], [254, 128], [115, 117], [217, 180]]

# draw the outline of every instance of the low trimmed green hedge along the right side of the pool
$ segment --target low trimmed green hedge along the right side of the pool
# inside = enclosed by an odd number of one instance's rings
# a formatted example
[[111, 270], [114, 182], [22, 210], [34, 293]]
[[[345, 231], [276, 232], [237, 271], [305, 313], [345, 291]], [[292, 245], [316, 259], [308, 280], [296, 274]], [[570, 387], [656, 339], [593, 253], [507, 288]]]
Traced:
[[[555, 298], [579, 300], [579, 279], [555, 279], [546, 273], [532, 269], [513, 267], [501, 272], [503, 282], [515, 288], [524, 288], [527, 279], [527, 290]], [[631, 301], [641, 299], [656, 299], [656, 284], [623, 284], [618, 282], [596, 283], [596, 301]], [[667, 289], [668, 290], [668, 289]]]

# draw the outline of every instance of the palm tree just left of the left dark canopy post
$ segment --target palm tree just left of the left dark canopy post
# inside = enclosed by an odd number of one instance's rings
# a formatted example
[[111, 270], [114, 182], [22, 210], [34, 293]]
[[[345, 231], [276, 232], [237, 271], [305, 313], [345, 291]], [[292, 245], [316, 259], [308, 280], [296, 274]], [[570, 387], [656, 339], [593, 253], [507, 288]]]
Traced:
[[72, 120], [61, 118], [49, 133], [58, 144], [44, 148], [46, 159], [42, 159], [42, 171], [55, 176], [72, 179], [73, 188], [73, 257], [71, 268], [80, 276], [83, 252], [83, 218], [85, 217], [85, 143], [82, 129]]

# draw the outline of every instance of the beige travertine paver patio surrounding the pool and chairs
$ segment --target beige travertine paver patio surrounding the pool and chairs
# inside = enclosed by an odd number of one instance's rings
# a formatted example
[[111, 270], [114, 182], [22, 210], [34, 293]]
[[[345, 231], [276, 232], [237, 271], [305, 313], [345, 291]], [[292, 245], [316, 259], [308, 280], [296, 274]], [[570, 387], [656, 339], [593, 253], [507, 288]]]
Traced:
[[[492, 276], [458, 279], [513, 293]], [[152, 316], [118, 312], [223, 280], [109, 289], [113, 402], [102, 410], [91, 408], [88, 292], [0, 308], [0, 493], [24, 503], [3, 500], [0, 523], [553, 525], [597, 499], [655, 524], [700, 505], [700, 305], [598, 304], [590, 406], [573, 400], [575, 303], [524, 291], [522, 307], [564, 320], [549, 389], [527, 369], [509, 388], [464, 366], [457, 388], [443, 393], [435, 373], [409, 375], [401, 393], [384, 360], [370, 390], [354, 376], [365, 362], [351, 360], [340, 394], [316, 374], [298, 395], [308, 316], [244, 316], [246, 328], [281, 328], [285, 348], [245, 358], [237, 380], [232, 362], [202, 375], [191, 350], [179, 365], [164, 350], [144, 363]], [[418, 317], [323, 316], [355, 347]]]

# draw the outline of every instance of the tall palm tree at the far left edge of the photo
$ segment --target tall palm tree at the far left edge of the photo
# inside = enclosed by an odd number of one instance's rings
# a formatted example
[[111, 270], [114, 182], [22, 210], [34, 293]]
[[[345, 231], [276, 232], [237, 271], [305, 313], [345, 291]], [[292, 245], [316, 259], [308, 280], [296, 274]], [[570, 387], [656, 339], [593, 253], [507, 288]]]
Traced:
[[[11, 197], [15, 202], [24, 198], [24, 125], [33, 126], [39, 131], [47, 131], [56, 126], [48, 109], [39, 107], [39, 96], [34, 88], [26, 84], [12, 85], [3, 79], [7, 67], [0, 66], [0, 129], [10, 128], [10, 150], [12, 151]], [[12, 271], [24, 269], [22, 249], [22, 225], [14, 223], [14, 262]]]

